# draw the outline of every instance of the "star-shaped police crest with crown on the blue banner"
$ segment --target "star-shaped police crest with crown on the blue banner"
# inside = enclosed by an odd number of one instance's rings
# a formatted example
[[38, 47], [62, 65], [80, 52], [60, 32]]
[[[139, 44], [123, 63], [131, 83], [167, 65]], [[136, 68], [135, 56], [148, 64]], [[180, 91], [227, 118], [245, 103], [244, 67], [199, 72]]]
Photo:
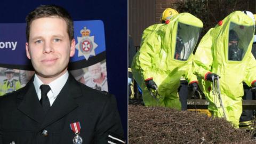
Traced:
[[90, 36], [91, 30], [84, 27], [80, 31], [81, 37], [77, 37], [78, 43], [76, 44], [76, 49], [78, 50], [78, 57], [84, 56], [86, 60], [89, 59], [90, 55], [95, 56], [95, 49], [98, 47], [94, 43], [94, 36]]

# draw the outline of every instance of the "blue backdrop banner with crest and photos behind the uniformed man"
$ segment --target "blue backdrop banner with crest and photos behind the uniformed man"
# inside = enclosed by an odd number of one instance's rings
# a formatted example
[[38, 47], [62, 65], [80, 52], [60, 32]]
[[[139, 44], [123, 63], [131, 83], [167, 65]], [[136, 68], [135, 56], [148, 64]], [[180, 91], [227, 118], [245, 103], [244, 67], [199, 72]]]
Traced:
[[[74, 38], [70, 73], [93, 89], [108, 91], [103, 22], [74, 21]], [[25, 86], [35, 73], [26, 57], [26, 42], [26, 23], [0, 23], [0, 95]]]

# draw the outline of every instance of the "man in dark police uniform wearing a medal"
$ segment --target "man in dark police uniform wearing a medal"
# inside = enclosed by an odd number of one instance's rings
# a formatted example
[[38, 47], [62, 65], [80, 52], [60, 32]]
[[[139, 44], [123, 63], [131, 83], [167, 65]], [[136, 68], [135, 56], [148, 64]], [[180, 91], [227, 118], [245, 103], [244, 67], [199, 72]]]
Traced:
[[115, 97], [67, 71], [75, 54], [68, 12], [41, 5], [26, 21], [26, 54], [35, 75], [0, 98], [0, 143], [125, 143]]

